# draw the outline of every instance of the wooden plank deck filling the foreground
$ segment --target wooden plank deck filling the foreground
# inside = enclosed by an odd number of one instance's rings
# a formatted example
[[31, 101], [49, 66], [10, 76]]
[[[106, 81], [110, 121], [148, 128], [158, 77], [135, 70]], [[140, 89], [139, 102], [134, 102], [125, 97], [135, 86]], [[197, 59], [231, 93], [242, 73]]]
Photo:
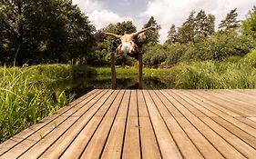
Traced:
[[256, 158], [256, 90], [93, 90], [0, 158]]

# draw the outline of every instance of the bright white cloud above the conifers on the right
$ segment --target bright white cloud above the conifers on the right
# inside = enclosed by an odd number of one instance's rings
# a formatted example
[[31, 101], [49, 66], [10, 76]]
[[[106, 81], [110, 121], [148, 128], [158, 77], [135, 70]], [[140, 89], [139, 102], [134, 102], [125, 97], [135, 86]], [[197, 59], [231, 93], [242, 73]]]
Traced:
[[180, 26], [188, 18], [192, 10], [206, 11], [207, 14], [216, 16], [215, 25], [219, 25], [220, 20], [230, 12], [231, 9], [238, 8], [238, 19], [244, 19], [249, 9], [254, 5], [254, 0], [151, 0], [148, 2], [146, 11], [140, 14], [141, 18], [154, 16], [162, 29], [160, 30], [160, 42], [166, 40], [171, 24]]

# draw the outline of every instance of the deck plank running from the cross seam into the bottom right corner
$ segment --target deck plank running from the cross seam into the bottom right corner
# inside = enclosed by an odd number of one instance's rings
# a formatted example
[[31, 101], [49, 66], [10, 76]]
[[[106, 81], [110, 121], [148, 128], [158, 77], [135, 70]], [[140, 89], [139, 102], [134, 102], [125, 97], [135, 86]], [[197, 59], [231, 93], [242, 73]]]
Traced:
[[239, 152], [241, 152], [241, 154], [245, 155], [247, 158], [254, 158], [256, 156], [255, 149], [253, 149], [249, 144], [244, 143], [236, 135], [231, 134], [220, 124], [215, 123], [209, 117], [201, 117], [200, 120], [209, 125], [212, 130], [218, 133], [227, 142], [232, 144], [232, 146], [234, 146]]

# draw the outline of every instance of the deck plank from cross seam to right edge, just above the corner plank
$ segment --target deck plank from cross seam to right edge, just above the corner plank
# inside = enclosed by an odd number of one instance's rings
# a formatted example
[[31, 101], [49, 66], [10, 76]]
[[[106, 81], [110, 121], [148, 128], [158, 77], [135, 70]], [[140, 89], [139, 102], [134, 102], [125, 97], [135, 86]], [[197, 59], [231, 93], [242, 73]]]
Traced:
[[256, 149], [256, 138], [255, 138], [255, 136], [252, 136], [251, 134], [245, 133], [240, 128], [236, 127], [233, 124], [230, 124], [229, 122], [227, 122], [226, 120], [224, 120], [220, 117], [212, 117], [212, 119], [216, 123], [224, 126], [228, 131], [230, 131], [230, 133], [235, 134], [236, 136], [241, 138], [241, 140], [243, 140], [247, 144], [250, 144], [254, 149]]

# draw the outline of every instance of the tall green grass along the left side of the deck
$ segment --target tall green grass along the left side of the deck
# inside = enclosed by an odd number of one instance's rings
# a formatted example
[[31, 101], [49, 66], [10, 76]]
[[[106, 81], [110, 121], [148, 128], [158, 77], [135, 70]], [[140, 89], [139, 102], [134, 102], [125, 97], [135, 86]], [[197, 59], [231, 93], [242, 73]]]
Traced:
[[69, 102], [63, 91], [47, 87], [55, 77], [45, 73], [34, 67], [0, 68], [0, 143]]

